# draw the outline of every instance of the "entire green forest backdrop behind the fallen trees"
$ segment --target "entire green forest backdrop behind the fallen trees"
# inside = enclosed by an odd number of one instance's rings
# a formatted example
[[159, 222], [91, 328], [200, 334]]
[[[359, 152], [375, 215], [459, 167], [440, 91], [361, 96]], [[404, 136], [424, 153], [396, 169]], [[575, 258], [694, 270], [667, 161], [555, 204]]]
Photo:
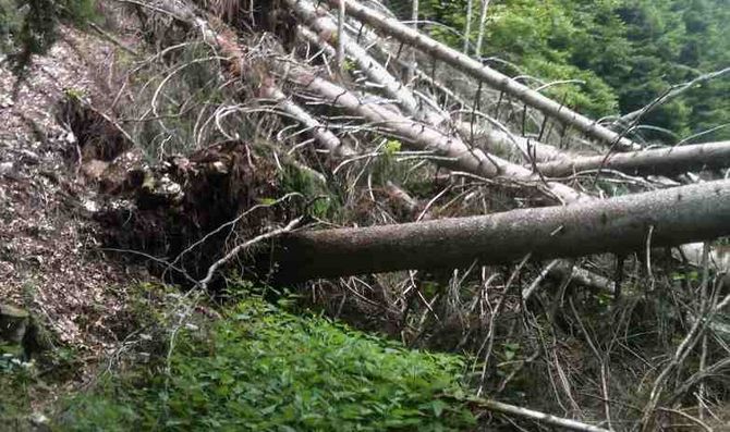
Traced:
[[[466, 27], [467, 2], [422, 1], [421, 26], [461, 47], [457, 32]], [[391, 7], [407, 20], [411, 3], [397, 0]], [[480, 1], [473, 3], [471, 54], [511, 76], [581, 81], [547, 91], [594, 118], [633, 112], [673, 86], [730, 64], [730, 8], [725, 0], [487, 1], [479, 53], [473, 50]], [[697, 84], [643, 118], [642, 123], [662, 131], [640, 131], [646, 139], [665, 143], [703, 132], [707, 133], [702, 141], [728, 139], [730, 128], [723, 127], [730, 112], [728, 95], [728, 79]]]

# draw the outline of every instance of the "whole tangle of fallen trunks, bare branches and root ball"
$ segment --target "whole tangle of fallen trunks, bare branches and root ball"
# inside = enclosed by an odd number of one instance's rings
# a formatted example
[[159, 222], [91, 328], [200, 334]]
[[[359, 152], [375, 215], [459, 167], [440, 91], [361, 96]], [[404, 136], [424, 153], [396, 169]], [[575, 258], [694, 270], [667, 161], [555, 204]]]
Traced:
[[[120, 2], [157, 44], [127, 77], [138, 94], [61, 111], [118, 250], [211, 291], [221, 270], [304, 284], [338, 316], [467, 350], [479, 396], [549, 386], [564, 417], [477, 403], [510, 418], [648, 431], [727, 404], [706, 382], [728, 367], [711, 344], [727, 255], [709, 246], [730, 235], [729, 143], [644, 148], [629, 136], [652, 107], [588, 119], [375, 0]], [[92, 148], [99, 131], [113, 151]], [[163, 163], [130, 168], [130, 148]], [[714, 181], [680, 186], [694, 172]]]

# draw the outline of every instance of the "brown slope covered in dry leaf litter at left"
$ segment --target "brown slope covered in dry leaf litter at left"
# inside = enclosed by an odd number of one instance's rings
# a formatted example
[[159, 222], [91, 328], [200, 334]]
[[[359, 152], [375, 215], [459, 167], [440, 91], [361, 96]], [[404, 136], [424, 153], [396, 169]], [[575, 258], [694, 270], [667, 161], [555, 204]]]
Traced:
[[[57, 118], [66, 92], [105, 103], [119, 89], [117, 48], [62, 29], [27, 76], [0, 69], [0, 303], [29, 310], [64, 358], [48, 359], [60, 386], [87, 382], [98, 361], [132, 330], [130, 286], [150, 281], [141, 267], [107, 259], [97, 240], [94, 181], [80, 170], [76, 137]], [[17, 89], [16, 94], [10, 91]], [[47, 393], [50, 391], [50, 393]], [[46, 387], [36, 405], [54, 398]]]

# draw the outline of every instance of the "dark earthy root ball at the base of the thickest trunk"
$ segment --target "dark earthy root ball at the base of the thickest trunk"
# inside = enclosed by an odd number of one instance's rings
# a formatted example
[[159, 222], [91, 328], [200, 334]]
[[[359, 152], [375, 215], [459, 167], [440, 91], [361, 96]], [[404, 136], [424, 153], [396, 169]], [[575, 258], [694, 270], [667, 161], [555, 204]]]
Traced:
[[[104, 243], [174, 262], [195, 280], [241, 238], [259, 234], [273, 221], [285, 220], [290, 211], [257, 210], [185, 251], [240, 213], [282, 195], [276, 166], [264, 158], [254, 158], [239, 141], [200, 150], [190, 159], [171, 158], [155, 171], [131, 171], [126, 183], [131, 190], [125, 194], [132, 203], [119, 206], [119, 201], [112, 201], [98, 214], [106, 229]], [[150, 264], [169, 281], [190, 283], [188, 277], [161, 261]]]

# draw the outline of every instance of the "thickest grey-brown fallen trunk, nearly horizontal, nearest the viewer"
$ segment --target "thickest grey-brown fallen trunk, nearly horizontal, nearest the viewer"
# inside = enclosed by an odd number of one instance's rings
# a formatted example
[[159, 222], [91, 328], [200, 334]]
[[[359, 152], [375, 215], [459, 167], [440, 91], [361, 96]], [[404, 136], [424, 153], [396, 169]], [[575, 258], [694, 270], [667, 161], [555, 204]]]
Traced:
[[306, 231], [280, 240], [282, 281], [629, 252], [730, 234], [730, 181], [485, 217]]

